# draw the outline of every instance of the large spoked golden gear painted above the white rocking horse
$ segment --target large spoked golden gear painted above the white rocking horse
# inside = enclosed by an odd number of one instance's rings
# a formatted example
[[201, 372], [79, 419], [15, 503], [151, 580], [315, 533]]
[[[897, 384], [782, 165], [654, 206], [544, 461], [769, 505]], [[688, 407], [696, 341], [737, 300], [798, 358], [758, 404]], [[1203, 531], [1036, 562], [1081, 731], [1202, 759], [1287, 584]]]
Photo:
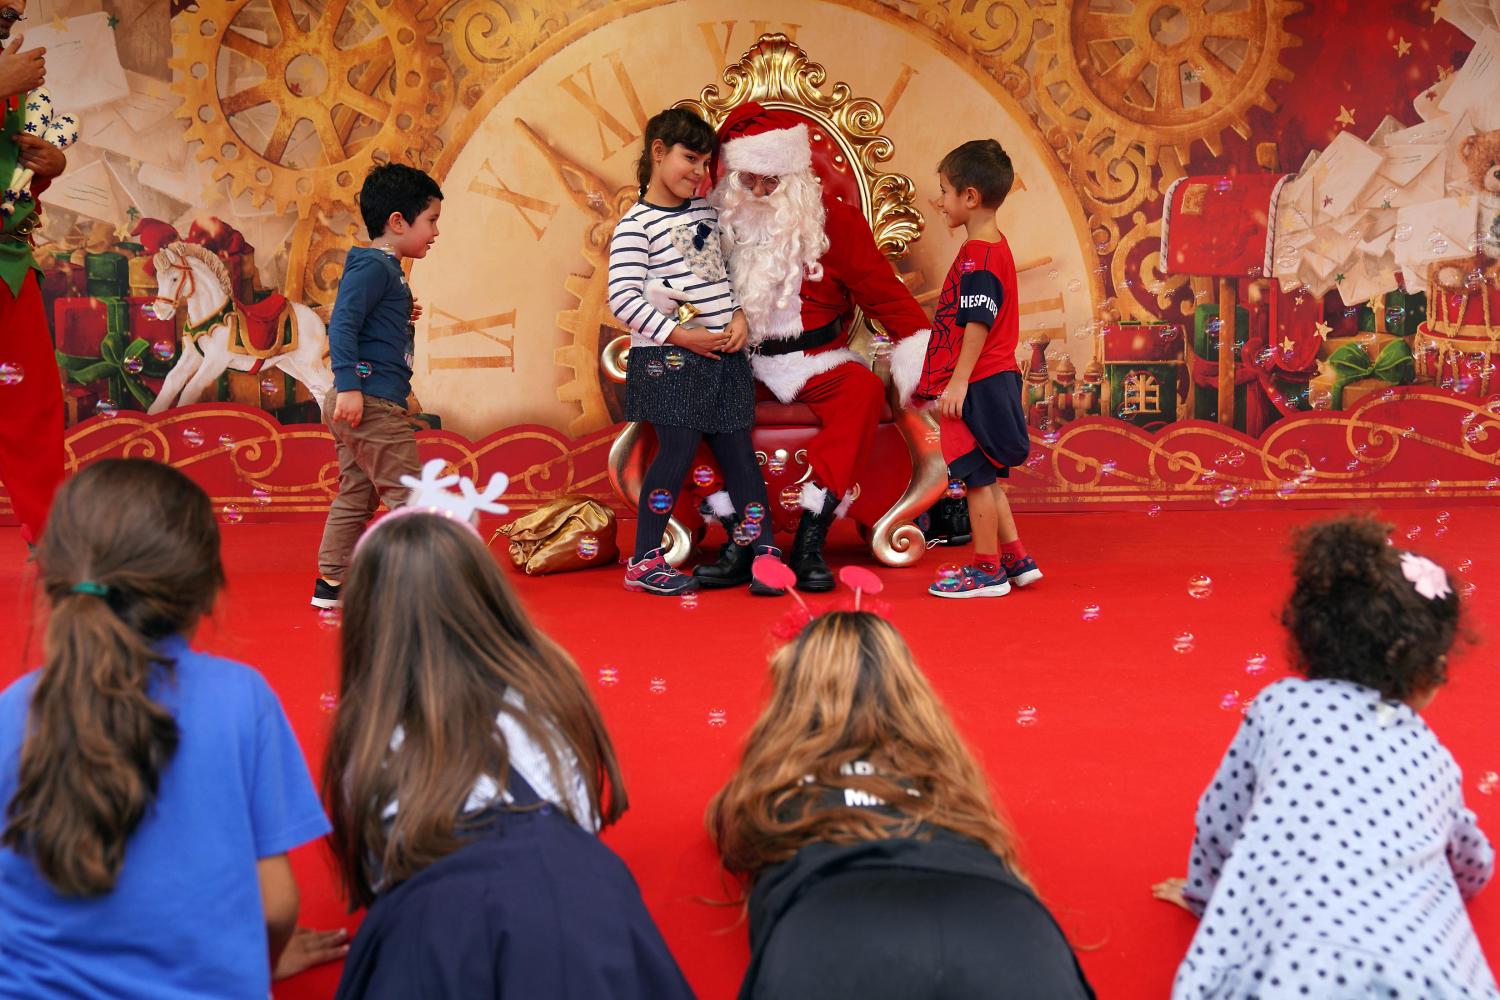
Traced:
[[[198, 159], [214, 162], [216, 180], [228, 177], [234, 195], [248, 192], [255, 204], [270, 201], [278, 211], [296, 205], [306, 217], [315, 205], [348, 204], [376, 159], [430, 163], [434, 133], [453, 100], [442, 49], [426, 40], [435, 30], [432, 21], [416, 18], [406, 3], [330, 0], [303, 27], [290, 0], [270, 0], [280, 30], [280, 43], [272, 46], [230, 30], [248, 4], [224, 0], [172, 19], [172, 90], [186, 97], [176, 114], [189, 123], [188, 139], [201, 144]], [[340, 45], [348, 31], [338, 28], [345, 22], [368, 22], [382, 33]], [[258, 63], [264, 79], [220, 94], [225, 49]], [[288, 82], [292, 63], [314, 78], [309, 93]], [[318, 82], [322, 75], [326, 84]], [[268, 139], [255, 148], [232, 117], [262, 105], [273, 105], [278, 117]], [[374, 123], [374, 132], [351, 141], [362, 117]], [[285, 162], [302, 121], [318, 138], [316, 166]]]

